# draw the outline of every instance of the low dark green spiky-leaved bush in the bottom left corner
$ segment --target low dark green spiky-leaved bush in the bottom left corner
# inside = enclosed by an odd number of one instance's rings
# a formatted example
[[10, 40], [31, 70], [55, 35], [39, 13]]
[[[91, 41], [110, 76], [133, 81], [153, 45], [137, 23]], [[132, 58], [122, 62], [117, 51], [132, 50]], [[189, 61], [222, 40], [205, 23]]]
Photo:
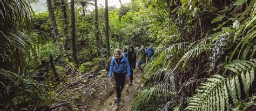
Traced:
[[[37, 73], [22, 73], [0, 69], [0, 108], [4, 110], [29, 108], [31, 103], [41, 103], [44, 95], [44, 87], [35, 79]], [[37, 106], [32, 106], [35, 108]], [[35, 108], [36, 109], [36, 108]]]

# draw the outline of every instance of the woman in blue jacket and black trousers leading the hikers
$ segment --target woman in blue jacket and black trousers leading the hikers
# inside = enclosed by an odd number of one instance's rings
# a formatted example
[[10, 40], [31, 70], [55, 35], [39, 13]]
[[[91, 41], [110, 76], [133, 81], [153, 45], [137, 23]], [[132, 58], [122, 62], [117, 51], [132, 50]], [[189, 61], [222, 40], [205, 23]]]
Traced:
[[112, 72], [114, 73], [114, 80], [116, 81], [117, 98], [115, 102], [118, 103], [121, 100], [121, 92], [124, 88], [125, 76], [128, 76], [128, 80], [131, 76], [129, 62], [127, 58], [123, 56], [121, 49], [114, 50], [109, 70], [110, 78], [112, 78]]

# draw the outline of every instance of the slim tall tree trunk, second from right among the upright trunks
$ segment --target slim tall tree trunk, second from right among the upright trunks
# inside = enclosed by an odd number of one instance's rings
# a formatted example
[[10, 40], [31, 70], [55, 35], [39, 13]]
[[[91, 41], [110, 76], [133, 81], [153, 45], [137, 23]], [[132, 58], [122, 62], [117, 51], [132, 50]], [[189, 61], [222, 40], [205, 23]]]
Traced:
[[100, 56], [100, 46], [101, 46], [101, 41], [100, 41], [100, 36], [99, 36], [99, 26], [98, 26], [98, 4], [97, 0], [94, 0], [95, 2], [95, 36], [96, 36], [96, 47], [98, 51], [98, 56]]

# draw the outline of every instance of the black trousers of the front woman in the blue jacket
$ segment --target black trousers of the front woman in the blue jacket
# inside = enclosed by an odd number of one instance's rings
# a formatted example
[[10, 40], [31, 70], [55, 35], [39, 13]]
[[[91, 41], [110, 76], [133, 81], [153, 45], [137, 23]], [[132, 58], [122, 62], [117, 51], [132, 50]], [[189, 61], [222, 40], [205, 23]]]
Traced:
[[116, 81], [117, 98], [121, 98], [121, 92], [124, 88], [126, 73], [114, 72], [114, 80]]

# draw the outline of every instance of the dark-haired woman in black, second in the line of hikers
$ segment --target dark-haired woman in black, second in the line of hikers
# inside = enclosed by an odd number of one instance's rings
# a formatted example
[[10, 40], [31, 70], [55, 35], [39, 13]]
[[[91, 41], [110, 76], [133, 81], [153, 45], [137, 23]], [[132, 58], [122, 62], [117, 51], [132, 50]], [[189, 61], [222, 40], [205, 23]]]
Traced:
[[129, 51], [127, 52], [127, 59], [129, 61], [130, 64], [130, 72], [131, 72], [131, 77], [130, 77], [130, 83], [129, 85], [132, 85], [132, 80], [133, 80], [133, 70], [135, 69], [136, 66], [136, 53], [134, 52], [134, 48], [133, 46], [130, 46]]

